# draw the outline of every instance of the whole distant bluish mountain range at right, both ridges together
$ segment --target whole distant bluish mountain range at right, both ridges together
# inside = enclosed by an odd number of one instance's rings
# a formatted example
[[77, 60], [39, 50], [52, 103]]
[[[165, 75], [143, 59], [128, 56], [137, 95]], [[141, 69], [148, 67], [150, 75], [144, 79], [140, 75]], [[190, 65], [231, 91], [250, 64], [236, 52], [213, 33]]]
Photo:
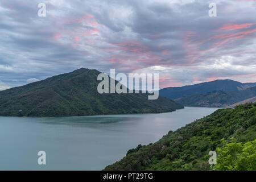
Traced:
[[255, 97], [256, 83], [215, 80], [201, 84], [159, 90], [160, 96], [174, 99], [184, 106], [226, 107]]

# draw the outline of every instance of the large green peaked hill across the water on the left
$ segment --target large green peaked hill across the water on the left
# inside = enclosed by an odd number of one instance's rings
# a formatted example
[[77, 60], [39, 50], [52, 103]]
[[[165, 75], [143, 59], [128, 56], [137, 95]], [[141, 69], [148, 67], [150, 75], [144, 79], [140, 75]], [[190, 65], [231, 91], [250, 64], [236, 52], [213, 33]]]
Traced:
[[162, 113], [183, 106], [147, 94], [100, 94], [95, 69], [71, 73], [0, 92], [1, 116], [57, 117], [95, 114]]

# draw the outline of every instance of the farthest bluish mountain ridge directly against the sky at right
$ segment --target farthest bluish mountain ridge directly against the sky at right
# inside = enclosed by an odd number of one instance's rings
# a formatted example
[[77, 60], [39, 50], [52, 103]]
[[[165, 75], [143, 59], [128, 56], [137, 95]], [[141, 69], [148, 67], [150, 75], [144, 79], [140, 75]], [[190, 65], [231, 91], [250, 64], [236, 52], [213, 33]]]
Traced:
[[159, 95], [163, 97], [168, 97], [171, 99], [176, 99], [190, 94], [200, 94], [212, 92], [214, 90], [224, 90], [224, 91], [236, 91], [244, 90], [256, 86], [256, 83], [245, 83], [242, 84], [238, 81], [233, 80], [215, 80], [210, 82], [203, 82], [195, 85], [187, 85], [181, 87], [168, 87], [159, 90]]

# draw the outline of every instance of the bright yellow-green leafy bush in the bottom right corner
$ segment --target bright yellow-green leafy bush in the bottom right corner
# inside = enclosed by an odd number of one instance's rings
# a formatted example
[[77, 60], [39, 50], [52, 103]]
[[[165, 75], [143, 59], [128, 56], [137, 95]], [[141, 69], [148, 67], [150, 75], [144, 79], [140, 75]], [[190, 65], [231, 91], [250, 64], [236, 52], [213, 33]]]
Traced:
[[235, 138], [224, 146], [217, 148], [217, 164], [213, 170], [221, 171], [255, 171], [256, 170], [256, 139], [253, 142], [236, 142]]

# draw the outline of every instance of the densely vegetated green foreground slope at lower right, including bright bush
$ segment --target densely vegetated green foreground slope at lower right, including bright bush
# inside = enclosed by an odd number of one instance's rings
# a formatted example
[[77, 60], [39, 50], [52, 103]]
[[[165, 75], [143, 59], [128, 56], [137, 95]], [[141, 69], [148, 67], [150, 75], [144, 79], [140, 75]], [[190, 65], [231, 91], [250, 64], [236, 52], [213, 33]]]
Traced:
[[[105, 170], [210, 170], [209, 151], [217, 151], [213, 169], [256, 170], [255, 123], [256, 102], [218, 109], [154, 144], [138, 145]], [[231, 143], [223, 145], [223, 139]]]

